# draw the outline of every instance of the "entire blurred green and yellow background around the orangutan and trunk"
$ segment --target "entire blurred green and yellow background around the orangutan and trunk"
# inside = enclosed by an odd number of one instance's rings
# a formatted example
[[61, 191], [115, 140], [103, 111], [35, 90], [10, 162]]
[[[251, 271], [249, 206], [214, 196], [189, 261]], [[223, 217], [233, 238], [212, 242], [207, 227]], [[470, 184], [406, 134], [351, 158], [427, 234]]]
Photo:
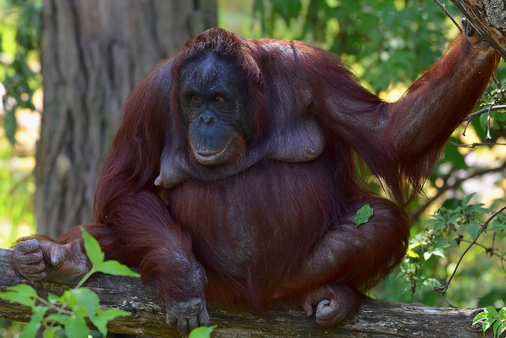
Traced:
[[[304, 40], [339, 53], [362, 84], [380, 97], [394, 101], [421, 72], [435, 63], [459, 31], [432, 0], [219, 0], [219, 26], [247, 39], [274, 37]], [[460, 22], [461, 15], [445, 3]], [[38, 36], [40, 0], [0, 0], [0, 247], [9, 248], [20, 236], [36, 232], [33, 208], [35, 146], [40, 128], [43, 89]], [[506, 77], [501, 60], [496, 78]], [[504, 82], [502, 82], [504, 84]], [[493, 100], [491, 84], [481, 103]], [[9, 92], [9, 95], [5, 95]], [[14, 93], [14, 94], [13, 94]], [[12, 100], [14, 97], [15, 101]], [[17, 102], [17, 104], [16, 104]], [[503, 103], [502, 103], [503, 104]], [[494, 121], [495, 120], [495, 121]], [[482, 142], [485, 121], [475, 119], [466, 136], [453, 141]], [[504, 143], [506, 128], [492, 121], [492, 141]], [[461, 130], [460, 130], [461, 131]], [[426, 196], [411, 205], [416, 215], [412, 234], [438, 207], [453, 207], [464, 196], [477, 193], [472, 202], [497, 210], [505, 203], [504, 170], [494, 170], [506, 160], [506, 146], [473, 149], [449, 145], [426, 186]], [[374, 187], [374, 181], [371, 180]], [[450, 186], [450, 189], [446, 189]], [[379, 191], [378, 191], [379, 192]], [[434, 196], [434, 203], [427, 204]], [[427, 204], [427, 205], [426, 205]], [[425, 206], [421, 207], [420, 206]], [[469, 239], [469, 235], [465, 235]], [[487, 237], [488, 236], [488, 237]], [[491, 234], [484, 241], [491, 241]], [[503, 240], [494, 248], [504, 252]], [[465, 247], [450, 248], [446, 257], [433, 255], [424, 274], [443, 285]], [[397, 302], [411, 301], [411, 284], [397, 278], [399, 271], [374, 290], [372, 296]], [[431, 306], [504, 306], [505, 271], [500, 260], [474, 247], [464, 257], [444, 297], [432, 286], [418, 286], [413, 302]], [[18, 324], [0, 325], [0, 336], [19, 334]], [[19, 324], [21, 325], [21, 324]], [[5, 326], [5, 327], [4, 327]], [[17, 332], [17, 333], [16, 333]]]

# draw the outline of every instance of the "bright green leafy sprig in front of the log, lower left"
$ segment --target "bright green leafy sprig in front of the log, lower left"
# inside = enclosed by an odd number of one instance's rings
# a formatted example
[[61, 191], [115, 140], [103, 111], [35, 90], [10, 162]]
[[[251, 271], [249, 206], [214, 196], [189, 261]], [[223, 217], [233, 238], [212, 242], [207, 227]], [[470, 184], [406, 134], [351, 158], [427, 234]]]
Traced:
[[[131, 277], [140, 277], [140, 275], [118, 261], [104, 261], [104, 253], [97, 240], [82, 227], [81, 232], [86, 253], [92, 262], [92, 269], [75, 288], [66, 290], [62, 296], [50, 294], [47, 300], [39, 297], [35, 289], [26, 284], [11, 286], [8, 288], [9, 291], [0, 293], [0, 298], [32, 309], [31, 320], [21, 332], [20, 338], [34, 338], [42, 325], [45, 326], [44, 338], [54, 337], [62, 328], [65, 328], [68, 338], [86, 338], [90, 334], [86, 317], [105, 337], [109, 321], [120, 316], [131, 316], [130, 312], [119, 309], [100, 309], [98, 295], [81, 285], [95, 272]], [[36, 305], [37, 301], [43, 305]], [[56, 313], [46, 316], [48, 310], [56, 311]]]

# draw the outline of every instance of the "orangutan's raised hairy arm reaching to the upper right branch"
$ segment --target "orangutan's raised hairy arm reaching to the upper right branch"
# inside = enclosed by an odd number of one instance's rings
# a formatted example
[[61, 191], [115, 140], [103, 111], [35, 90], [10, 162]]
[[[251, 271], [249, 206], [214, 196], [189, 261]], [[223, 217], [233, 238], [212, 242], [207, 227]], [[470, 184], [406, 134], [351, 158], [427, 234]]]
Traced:
[[421, 189], [444, 144], [497, 67], [499, 55], [466, 21], [463, 26], [467, 33], [457, 36], [441, 60], [397, 102], [382, 101], [349, 76], [327, 82], [323, 118], [332, 126], [334, 139], [354, 148], [399, 201], [405, 198], [403, 182]]

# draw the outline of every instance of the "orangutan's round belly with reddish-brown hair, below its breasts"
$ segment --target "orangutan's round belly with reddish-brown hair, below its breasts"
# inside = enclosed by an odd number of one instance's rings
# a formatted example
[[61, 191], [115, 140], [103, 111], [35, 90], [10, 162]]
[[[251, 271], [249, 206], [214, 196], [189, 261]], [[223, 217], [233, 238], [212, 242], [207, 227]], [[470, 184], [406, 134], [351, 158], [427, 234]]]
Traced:
[[275, 162], [224, 181], [184, 182], [169, 193], [171, 213], [197, 255], [244, 277], [262, 261], [282, 264], [287, 252], [312, 243], [325, 227], [332, 194], [322, 171], [308, 167]]

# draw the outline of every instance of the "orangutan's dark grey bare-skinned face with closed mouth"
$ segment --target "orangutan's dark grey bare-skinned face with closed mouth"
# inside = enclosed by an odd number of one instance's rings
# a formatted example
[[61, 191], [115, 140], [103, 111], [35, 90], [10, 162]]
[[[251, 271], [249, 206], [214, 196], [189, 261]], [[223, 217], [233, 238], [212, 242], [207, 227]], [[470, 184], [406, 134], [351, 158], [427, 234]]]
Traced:
[[251, 122], [246, 86], [232, 64], [214, 54], [185, 63], [179, 102], [190, 152], [199, 163], [220, 165], [242, 155]]

